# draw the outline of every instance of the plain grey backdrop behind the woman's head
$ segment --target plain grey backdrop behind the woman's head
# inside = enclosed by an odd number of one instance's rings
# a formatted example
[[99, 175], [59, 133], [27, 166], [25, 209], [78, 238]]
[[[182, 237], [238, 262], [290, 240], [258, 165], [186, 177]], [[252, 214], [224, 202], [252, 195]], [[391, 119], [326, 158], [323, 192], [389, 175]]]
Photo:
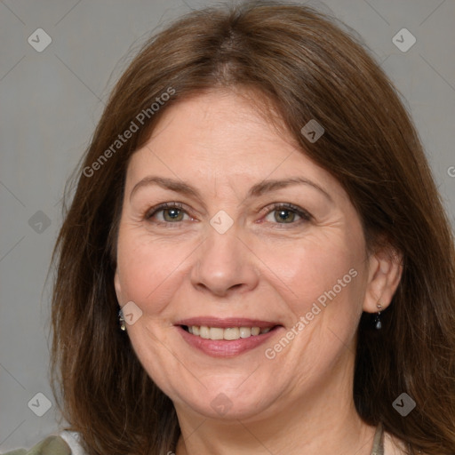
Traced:
[[[206, 4], [215, 2], [0, 1], [0, 452], [30, 447], [59, 428], [48, 383], [45, 278], [65, 181], [131, 46]], [[354, 28], [403, 94], [455, 224], [455, 0], [309, 4]], [[28, 44], [37, 28], [52, 37], [43, 52]], [[392, 42], [402, 28], [417, 39], [408, 52]], [[37, 393], [52, 404], [43, 417], [36, 412], [46, 401]]]

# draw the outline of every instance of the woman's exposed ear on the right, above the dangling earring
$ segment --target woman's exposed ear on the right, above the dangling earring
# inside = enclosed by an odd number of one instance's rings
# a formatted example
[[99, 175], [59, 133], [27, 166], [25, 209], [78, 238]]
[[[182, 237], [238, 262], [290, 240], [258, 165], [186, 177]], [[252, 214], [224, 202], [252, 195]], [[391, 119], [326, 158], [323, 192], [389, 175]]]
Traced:
[[390, 305], [403, 273], [403, 256], [391, 247], [371, 254], [363, 311], [377, 313]]

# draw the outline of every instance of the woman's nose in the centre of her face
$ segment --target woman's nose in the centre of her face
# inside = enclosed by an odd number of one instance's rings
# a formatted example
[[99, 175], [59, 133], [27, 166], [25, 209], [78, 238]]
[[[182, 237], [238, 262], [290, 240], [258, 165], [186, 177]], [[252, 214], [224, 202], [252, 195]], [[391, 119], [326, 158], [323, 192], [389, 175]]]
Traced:
[[190, 280], [198, 291], [228, 297], [253, 290], [259, 282], [255, 255], [232, 227], [220, 234], [209, 228], [208, 238], [197, 249]]

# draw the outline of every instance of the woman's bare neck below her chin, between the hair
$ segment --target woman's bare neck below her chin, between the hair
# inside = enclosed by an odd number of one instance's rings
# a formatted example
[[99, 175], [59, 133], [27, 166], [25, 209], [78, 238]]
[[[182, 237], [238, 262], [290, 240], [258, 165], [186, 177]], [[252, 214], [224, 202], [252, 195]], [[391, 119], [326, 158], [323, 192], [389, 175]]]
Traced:
[[297, 400], [281, 396], [280, 411], [248, 419], [208, 419], [177, 409], [181, 436], [176, 455], [370, 455], [376, 428], [355, 411], [353, 375], [339, 372]]

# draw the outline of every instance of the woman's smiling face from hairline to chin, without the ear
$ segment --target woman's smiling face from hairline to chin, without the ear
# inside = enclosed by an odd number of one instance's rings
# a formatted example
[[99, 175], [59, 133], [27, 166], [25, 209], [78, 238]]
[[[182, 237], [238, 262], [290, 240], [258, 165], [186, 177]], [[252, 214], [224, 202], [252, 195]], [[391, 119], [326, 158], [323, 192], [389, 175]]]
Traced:
[[168, 108], [132, 156], [117, 259], [132, 346], [178, 412], [254, 419], [350, 393], [361, 222], [233, 92]]

